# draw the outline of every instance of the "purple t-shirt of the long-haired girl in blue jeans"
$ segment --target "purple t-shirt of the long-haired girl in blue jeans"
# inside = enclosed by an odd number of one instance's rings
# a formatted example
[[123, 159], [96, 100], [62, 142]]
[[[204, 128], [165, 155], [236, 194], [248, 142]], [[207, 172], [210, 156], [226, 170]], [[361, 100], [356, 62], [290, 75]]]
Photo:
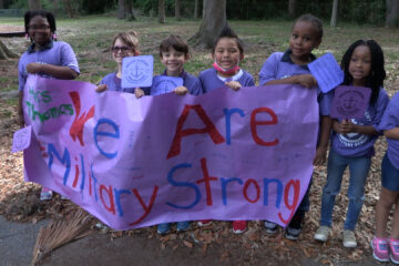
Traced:
[[[377, 131], [382, 114], [388, 105], [389, 96], [381, 88], [375, 104], [368, 104], [365, 115], [361, 119], [351, 119], [354, 124], [371, 125]], [[375, 154], [374, 144], [378, 135], [366, 135], [359, 133], [338, 134], [331, 133], [331, 149], [341, 156], [359, 157], [372, 156]]]

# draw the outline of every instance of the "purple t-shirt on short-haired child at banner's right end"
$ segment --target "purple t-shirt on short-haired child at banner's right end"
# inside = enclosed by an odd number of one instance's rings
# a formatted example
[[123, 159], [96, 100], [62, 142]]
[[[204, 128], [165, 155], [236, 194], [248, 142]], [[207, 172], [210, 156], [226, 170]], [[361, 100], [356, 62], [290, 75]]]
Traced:
[[[286, 52], [275, 52], [266, 60], [259, 72], [259, 84], [264, 85], [272, 80], [283, 80], [291, 75], [310, 74], [308, 66], [299, 65], [293, 62], [288, 49]], [[311, 61], [316, 59], [310, 54]], [[317, 88], [317, 102], [319, 104], [320, 115], [329, 115], [332, 104], [332, 93], [323, 93], [320, 88]]]

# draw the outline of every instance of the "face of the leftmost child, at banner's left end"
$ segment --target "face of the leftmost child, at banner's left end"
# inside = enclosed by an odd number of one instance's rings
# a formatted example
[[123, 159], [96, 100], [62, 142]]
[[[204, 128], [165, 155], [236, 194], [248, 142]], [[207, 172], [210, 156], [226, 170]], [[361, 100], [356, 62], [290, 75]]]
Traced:
[[41, 16], [31, 18], [28, 34], [39, 48], [44, 47], [51, 40], [52, 34], [48, 19]]

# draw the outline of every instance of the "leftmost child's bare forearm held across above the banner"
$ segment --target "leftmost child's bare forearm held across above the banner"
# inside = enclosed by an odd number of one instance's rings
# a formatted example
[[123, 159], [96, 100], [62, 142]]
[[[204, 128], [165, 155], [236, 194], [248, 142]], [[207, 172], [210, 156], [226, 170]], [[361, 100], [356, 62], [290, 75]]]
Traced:
[[78, 78], [76, 71], [69, 66], [54, 64], [29, 63], [27, 71], [32, 74], [44, 73], [60, 80], [74, 80]]

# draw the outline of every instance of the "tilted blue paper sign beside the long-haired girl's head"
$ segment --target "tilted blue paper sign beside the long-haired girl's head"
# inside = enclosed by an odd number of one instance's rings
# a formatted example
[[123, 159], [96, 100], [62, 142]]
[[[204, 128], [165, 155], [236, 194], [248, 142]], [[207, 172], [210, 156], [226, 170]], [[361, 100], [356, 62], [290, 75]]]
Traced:
[[344, 81], [344, 72], [331, 53], [326, 53], [309, 63], [308, 66], [324, 93], [338, 86]]

